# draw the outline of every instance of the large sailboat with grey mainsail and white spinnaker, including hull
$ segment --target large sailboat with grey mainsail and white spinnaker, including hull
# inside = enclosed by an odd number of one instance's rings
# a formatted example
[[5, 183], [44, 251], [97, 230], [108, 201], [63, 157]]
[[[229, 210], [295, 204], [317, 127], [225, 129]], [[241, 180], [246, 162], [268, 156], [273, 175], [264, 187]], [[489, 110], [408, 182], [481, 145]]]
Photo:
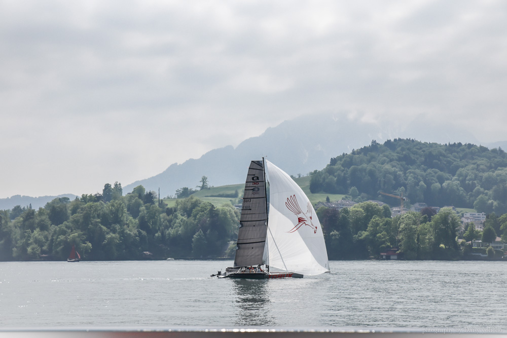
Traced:
[[308, 197], [273, 163], [264, 158], [251, 161], [234, 267], [211, 276], [302, 278], [325, 272], [330, 272], [328, 253], [322, 228]]

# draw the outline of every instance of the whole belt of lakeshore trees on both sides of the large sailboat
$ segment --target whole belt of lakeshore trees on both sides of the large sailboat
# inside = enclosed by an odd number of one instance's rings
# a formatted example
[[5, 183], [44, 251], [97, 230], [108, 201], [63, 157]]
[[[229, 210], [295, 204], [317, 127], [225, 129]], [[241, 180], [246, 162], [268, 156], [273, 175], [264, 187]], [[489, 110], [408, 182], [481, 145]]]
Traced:
[[[460, 259], [472, 251], [465, 242], [490, 243], [497, 234], [507, 241], [507, 214], [488, 215], [483, 232], [473, 224], [463, 232], [451, 208], [391, 217], [387, 205], [362, 202], [322, 207], [317, 216], [330, 259], [378, 257], [390, 248], [405, 259]], [[64, 260], [72, 245], [86, 260], [140, 259], [146, 251], [160, 258], [233, 257], [238, 226], [239, 211], [229, 204], [216, 208], [190, 197], [167, 207], [142, 186], [122, 196], [119, 183], [106, 184], [102, 194], [1, 211], [0, 260]]]

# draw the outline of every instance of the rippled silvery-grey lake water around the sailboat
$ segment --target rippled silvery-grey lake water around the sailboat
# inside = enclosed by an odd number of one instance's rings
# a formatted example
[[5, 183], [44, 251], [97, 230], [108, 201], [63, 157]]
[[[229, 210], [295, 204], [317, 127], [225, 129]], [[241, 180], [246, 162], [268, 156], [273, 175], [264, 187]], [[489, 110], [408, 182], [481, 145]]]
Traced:
[[0, 262], [0, 329], [386, 327], [507, 332], [501, 261], [331, 261], [303, 279], [233, 261]]

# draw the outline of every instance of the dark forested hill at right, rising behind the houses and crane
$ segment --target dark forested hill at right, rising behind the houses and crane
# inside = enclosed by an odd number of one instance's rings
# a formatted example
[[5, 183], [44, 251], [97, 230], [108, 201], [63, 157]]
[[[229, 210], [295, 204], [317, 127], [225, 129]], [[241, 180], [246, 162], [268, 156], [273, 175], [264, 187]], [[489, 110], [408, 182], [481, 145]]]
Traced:
[[312, 193], [349, 194], [358, 201], [396, 202], [379, 192], [401, 194], [408, 203], [507, 212], [507, 155], [474, 144], [423, 143], [412, 139], [372, 141], [332, 158], [314, 171]]

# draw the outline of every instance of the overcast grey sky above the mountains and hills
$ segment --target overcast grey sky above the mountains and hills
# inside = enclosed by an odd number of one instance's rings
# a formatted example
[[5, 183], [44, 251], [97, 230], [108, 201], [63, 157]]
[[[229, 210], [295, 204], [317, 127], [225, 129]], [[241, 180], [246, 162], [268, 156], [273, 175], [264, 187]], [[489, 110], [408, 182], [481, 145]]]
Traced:
[[0, 0], [0, 198], [101, 192], [316, 112], [507, 140], [507, 2]]

